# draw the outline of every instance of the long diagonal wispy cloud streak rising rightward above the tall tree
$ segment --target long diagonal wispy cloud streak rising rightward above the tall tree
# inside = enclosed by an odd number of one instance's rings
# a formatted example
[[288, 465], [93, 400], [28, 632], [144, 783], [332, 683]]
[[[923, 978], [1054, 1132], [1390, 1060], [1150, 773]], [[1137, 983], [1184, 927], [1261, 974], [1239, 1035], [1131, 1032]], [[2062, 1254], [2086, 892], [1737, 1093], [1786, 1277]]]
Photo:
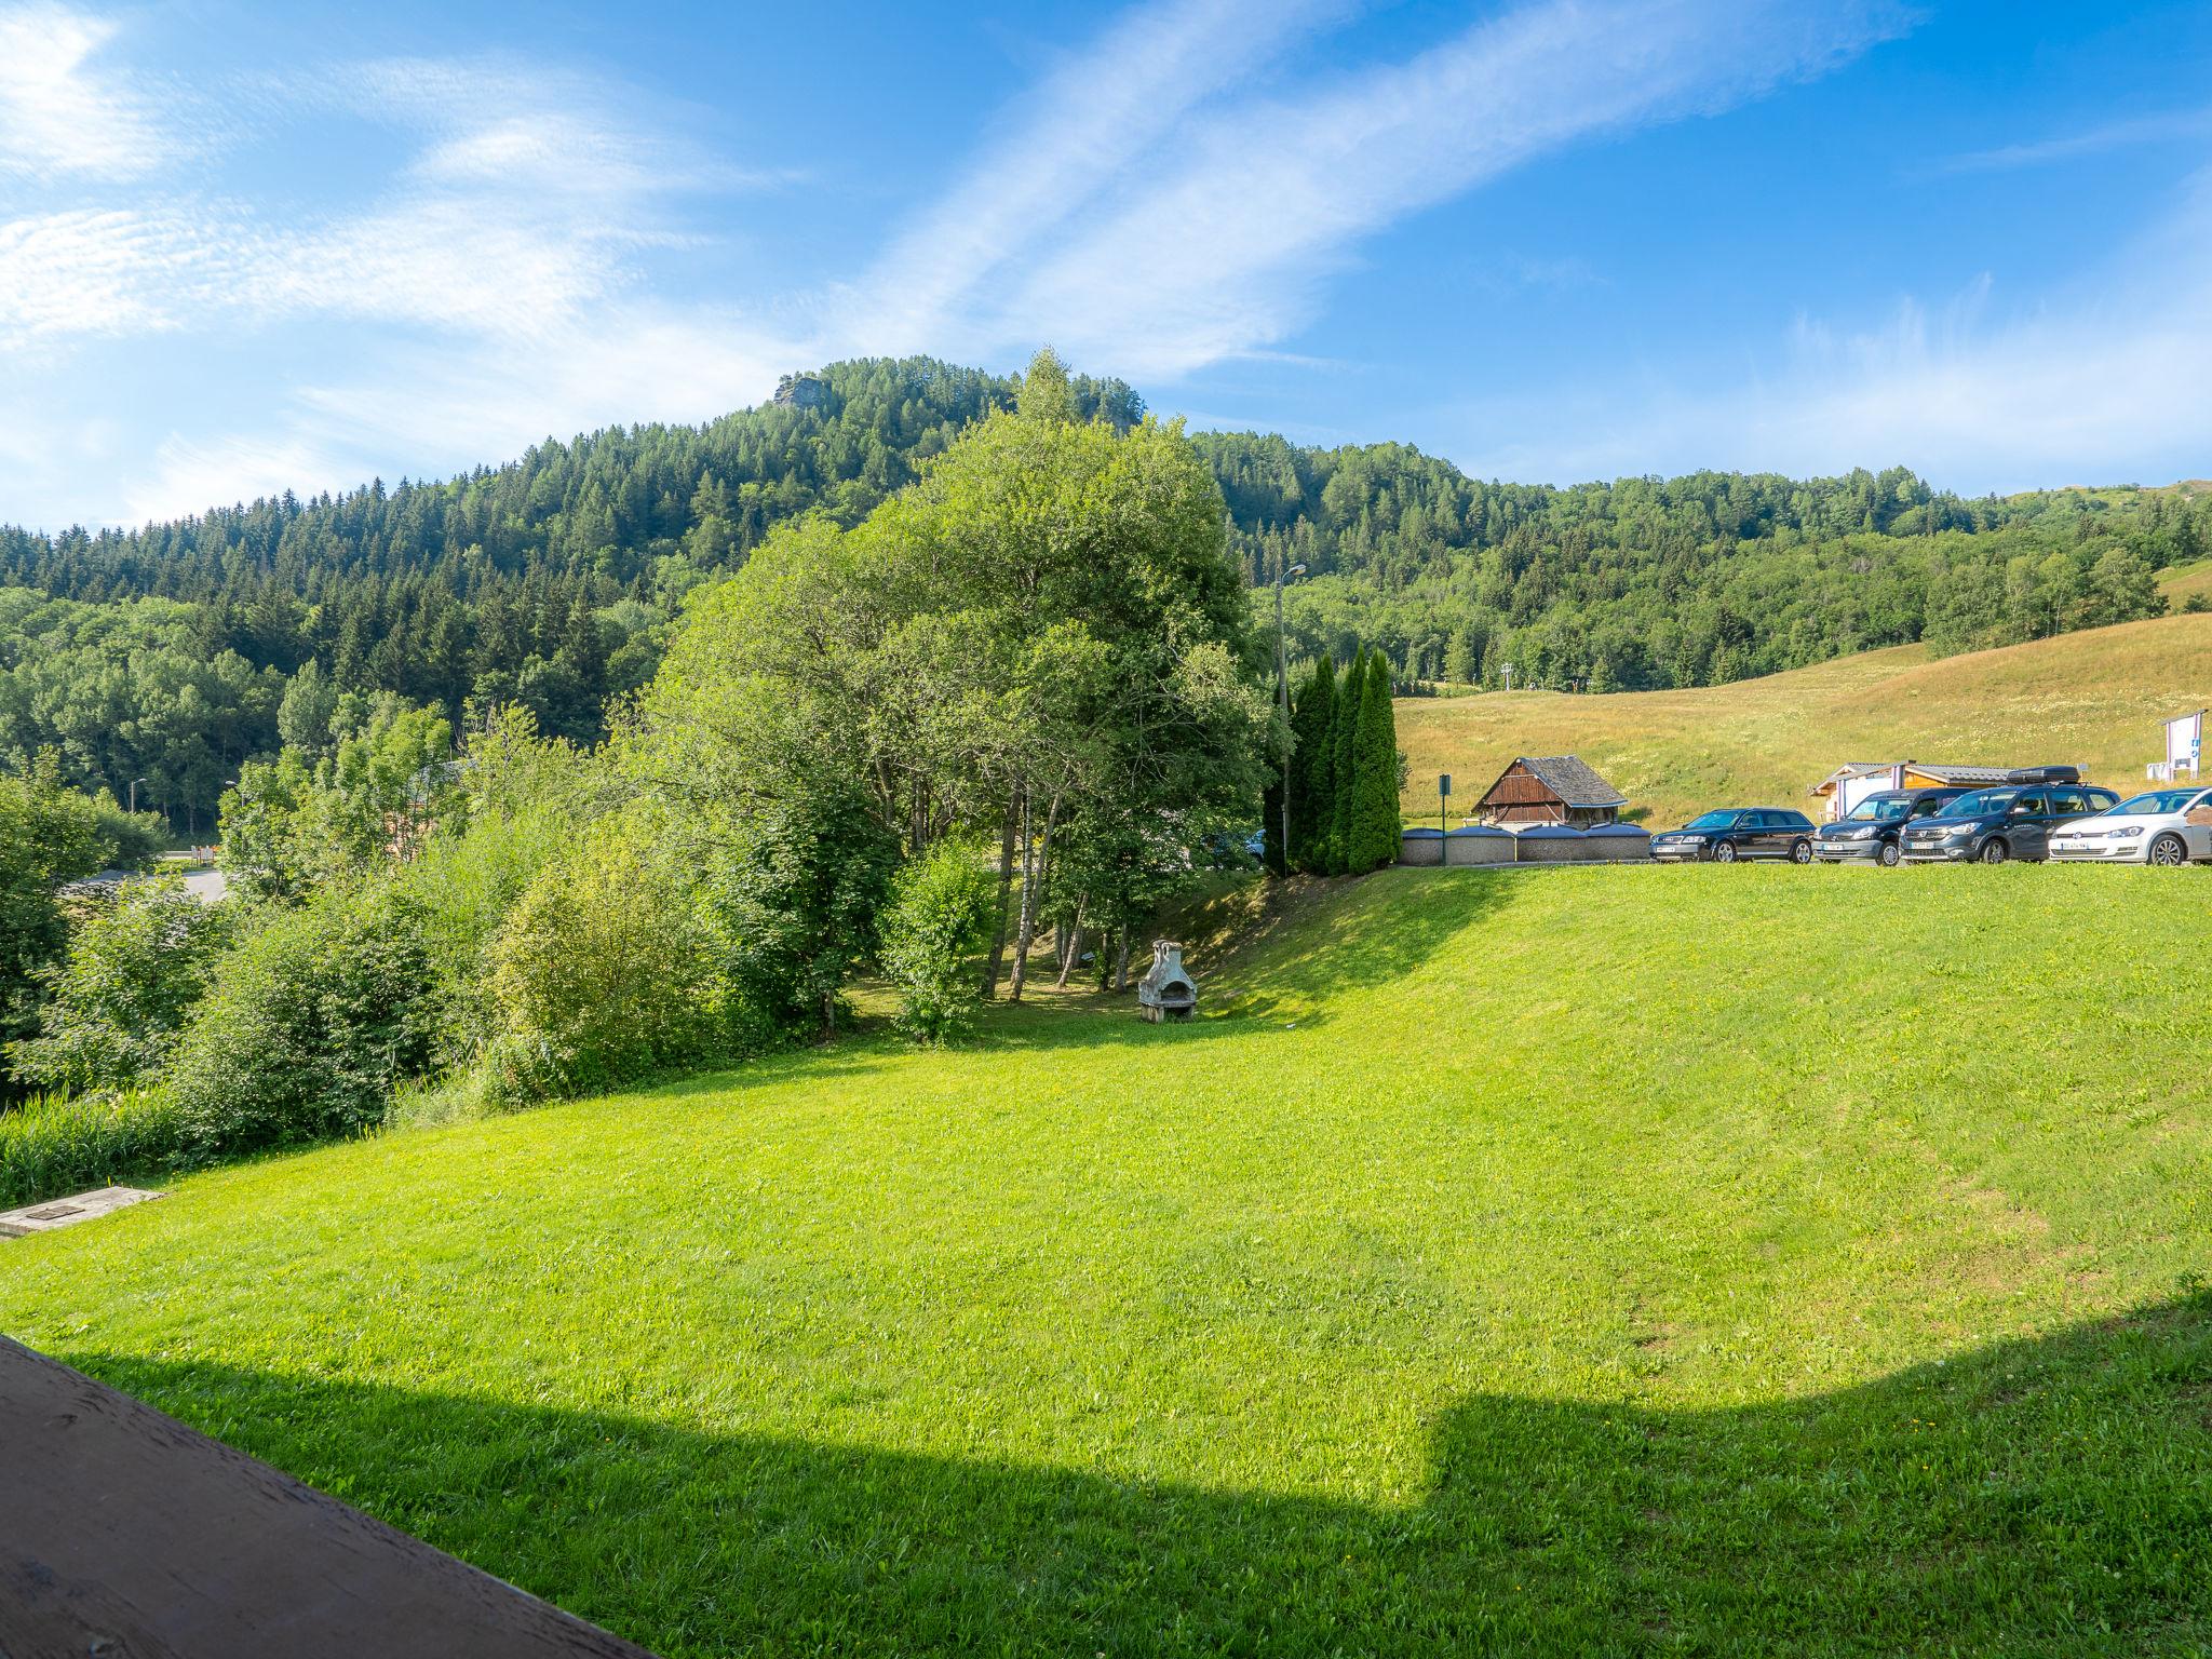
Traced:
[[[1905, 24], [1878, 0], [1546, 0], [1301, 97], [1199, 108], [1075, 210], [1002, 223], [1022, 234], [982, 250], [995, 270], [962, 325], [978, 345], [1053, 338], [1177, 376], [1294, 332], [1356, 243], [1409, 212], [1593, 135], [1825, 73]], [[1119, 73], [1108, 42], [1082, 82]], [[1015, 131], [980, 177], [1018, 173], [1040, 139]]]

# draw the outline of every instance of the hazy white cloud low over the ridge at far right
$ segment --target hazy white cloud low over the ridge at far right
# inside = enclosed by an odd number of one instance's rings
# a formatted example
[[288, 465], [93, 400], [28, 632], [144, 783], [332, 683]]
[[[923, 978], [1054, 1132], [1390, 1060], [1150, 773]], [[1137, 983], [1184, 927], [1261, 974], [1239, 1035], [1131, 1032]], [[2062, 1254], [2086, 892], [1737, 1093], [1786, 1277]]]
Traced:
[[1447, 451], [1478, 476], [1555, 482], [1880, 465], [1969, 493], [2166, 482], [2205, 471], [2208, 319], [2212, 173], [2075, 294], [2004, 310], [1984, 279], [1933, 314], [1905, 303], [1876, 327], [1801, 323], [1774, 343], [1774, 369], [1641, 396], [1553, 387], [1464, 411], [1469, 436]]

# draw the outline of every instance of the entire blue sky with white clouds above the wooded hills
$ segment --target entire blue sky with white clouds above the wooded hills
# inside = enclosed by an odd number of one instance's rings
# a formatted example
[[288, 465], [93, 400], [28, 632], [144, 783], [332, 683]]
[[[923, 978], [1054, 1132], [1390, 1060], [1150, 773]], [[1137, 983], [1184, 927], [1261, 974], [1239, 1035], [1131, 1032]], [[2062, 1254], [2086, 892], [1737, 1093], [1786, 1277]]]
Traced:
[[1473, 473], [2212, 473], [2212, 7], [0, 0], [0, 522], [1051, 341]]

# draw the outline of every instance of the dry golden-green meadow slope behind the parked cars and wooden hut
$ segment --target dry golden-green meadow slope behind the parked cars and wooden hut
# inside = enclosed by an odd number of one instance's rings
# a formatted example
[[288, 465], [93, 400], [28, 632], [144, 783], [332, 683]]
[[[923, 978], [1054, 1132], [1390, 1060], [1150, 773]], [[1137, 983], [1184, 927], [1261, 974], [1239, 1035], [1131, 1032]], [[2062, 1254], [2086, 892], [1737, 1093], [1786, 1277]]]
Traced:
[[1717, 805], [1796, 805], [1843, 761], [2073, 761], [2121, 792], [2161, 759], [2159, 721], [2212, 703], [2212, 615], [1931, 657], [1869, 650], [1770, 679], [1670, 692], [1491, 692], [1398, 703], [1409, 823], [1436, 774], [1464, 812], [1515, 754], [1582, 754], [1644, 823]]

